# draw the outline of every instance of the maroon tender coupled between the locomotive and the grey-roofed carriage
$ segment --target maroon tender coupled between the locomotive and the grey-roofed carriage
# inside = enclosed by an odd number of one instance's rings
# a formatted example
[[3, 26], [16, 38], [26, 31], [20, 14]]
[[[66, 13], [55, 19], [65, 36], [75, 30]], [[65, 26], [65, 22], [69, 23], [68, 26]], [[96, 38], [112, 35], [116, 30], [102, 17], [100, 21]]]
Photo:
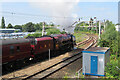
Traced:
[[35, 38], [34, 44], [31, 44], [31, 47], [33, 49], [33, 57], [43, 58], [49, 50], [54, 50], [54, 41], [51, 37]]

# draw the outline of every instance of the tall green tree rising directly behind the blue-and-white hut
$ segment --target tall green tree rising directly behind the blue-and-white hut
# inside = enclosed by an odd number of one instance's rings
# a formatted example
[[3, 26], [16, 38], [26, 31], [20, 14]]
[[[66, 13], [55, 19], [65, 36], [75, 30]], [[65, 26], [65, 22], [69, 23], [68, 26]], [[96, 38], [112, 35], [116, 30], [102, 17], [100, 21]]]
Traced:
[[106, 21], [105, 32], [101, 35], [101, 40], [99, 41], [99, 45], [101, 47], [110, 47], [111, 53], [118, 55], [118, 33], [115, 29], [115, 25], [110, 21]]

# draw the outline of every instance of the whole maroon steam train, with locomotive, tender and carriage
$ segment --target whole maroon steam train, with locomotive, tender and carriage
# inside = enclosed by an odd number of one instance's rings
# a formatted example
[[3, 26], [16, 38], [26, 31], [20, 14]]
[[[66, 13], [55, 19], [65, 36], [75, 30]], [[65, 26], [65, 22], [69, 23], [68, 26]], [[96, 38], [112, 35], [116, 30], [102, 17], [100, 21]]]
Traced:
[[40, 60], [48, 56], [60, 54], [61, 51], [73, 49], [75, 36], [71, 34], [54, 34], [39, 38], [6, 39], [2, 41], [2, 66], [5, 70], [22, 67], [30, 60]]

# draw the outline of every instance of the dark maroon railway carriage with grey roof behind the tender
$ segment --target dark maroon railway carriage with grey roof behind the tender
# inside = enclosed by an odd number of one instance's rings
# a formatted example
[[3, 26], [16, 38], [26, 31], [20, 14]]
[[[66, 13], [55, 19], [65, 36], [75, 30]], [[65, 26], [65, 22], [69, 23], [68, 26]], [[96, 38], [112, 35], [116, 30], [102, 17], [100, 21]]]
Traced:
[[2, 40], [2, 64], [6, 68], [16, 66], [19, 61], [29, 60], [31, 56], [30, 41], [27, 39]]

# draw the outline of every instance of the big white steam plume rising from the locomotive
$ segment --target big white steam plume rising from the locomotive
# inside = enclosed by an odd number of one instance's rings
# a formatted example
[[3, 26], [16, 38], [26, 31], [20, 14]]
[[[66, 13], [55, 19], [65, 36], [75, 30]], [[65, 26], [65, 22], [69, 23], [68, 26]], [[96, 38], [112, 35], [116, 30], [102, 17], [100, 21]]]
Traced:
[[[66, 32], [73, 33], [74, 28], [70, 28], [77, 14], [73, 13], [75, 6], [79, 0], [40, 0], [39, 2], [33, 2], [30, 0], [30, 4], [33, 7], [39, 8], [42, 13], [52, 16], [51, 21], [57, 25], [60, 30], [65, 29]], [[69, 27], [69, 28], [68, 28]]]

